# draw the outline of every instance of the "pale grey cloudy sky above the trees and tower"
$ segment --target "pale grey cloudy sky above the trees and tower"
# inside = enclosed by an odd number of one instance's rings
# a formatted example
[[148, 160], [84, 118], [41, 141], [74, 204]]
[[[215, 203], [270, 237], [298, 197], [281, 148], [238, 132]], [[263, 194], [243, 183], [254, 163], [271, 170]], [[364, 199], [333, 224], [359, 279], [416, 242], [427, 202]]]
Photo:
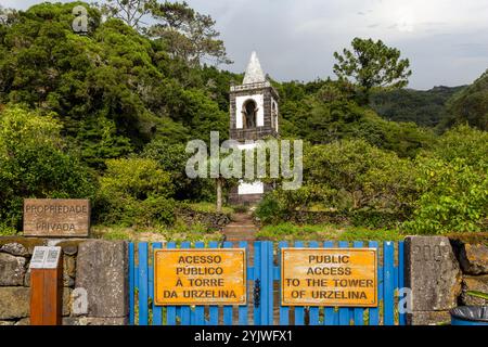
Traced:
[[[0, 0], [27, 8], [36, 0]], [[333, 52], [382, 39], [410, 59], [410, 87], [470, 83], [488, 68], [487, 0], [187, 0], [210, 14], [243, 72], [253, 50], [279, 80], [333, 76]]]

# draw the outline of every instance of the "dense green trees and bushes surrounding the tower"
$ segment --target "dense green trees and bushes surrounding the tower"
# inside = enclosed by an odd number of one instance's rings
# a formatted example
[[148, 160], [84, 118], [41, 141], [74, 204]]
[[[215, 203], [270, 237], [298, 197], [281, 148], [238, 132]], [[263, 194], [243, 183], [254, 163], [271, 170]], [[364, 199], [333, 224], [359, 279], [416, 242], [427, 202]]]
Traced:
[[[185, 3], [144, 3], [132, 10], [154, 27], [120, 18], [114, 2], [0, 13], [1, 232], [22, 230], [26, 197], [90, 198], [94, 221], [116, 239], [147, 230], [178, 239], [189, 234], [178, 232], [188, 228], [179, 207], [213, 211], [216, 182], [187, 177], [185, 143], [210, 131], [227, 139], [229, 87], [242, 75], [205, 65], [228, 62], [209, 16]], [[86, 35], [70, 26], [77, 4], [88, 9]], [[453, 97], [420, 95], [398, 89], [409, 62], [381, 41], [355, 39], [336, 57], [337, 80], [272, 81], [281, 136], [306, 142], [304, 185], [270, 193], [256, 211], [261, 221], [298, 232], [280, 224], [317, 210], [344, 217], [351, 229], [343, 234], [357, 237], [367, 227], [388, 239], [398, 229], [486, 231], [488, 75]], [[310, 228], [299, 232], [320, 234]], [[195, 237], [214, 233], [201, 231]]]

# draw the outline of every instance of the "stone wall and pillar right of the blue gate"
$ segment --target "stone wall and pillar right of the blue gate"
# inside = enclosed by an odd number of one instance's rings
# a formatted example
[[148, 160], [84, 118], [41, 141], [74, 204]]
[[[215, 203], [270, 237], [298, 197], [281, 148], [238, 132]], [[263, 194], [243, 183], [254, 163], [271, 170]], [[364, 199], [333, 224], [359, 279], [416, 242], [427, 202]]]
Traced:
[[410, 236], [406, 240], [406, 286], [412, 290], [412, 325], [450, 322], [457, 306], [487, 305], [467, 291], [488, 292], [488, 240]]

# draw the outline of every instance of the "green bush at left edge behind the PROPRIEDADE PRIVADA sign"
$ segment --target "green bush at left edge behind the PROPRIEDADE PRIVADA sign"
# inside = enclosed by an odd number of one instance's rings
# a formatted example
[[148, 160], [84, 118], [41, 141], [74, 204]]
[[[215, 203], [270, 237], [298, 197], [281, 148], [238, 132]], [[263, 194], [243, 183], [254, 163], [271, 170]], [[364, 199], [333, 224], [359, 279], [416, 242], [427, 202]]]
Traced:
[[[22, 228], [27, 197], [90, 198], [95, 181], [67, 153], [61, 125], [21, 107], [0, 113], [0, 224], [12, 233]], [[3, 231], [4, 233], [5, 231]]]

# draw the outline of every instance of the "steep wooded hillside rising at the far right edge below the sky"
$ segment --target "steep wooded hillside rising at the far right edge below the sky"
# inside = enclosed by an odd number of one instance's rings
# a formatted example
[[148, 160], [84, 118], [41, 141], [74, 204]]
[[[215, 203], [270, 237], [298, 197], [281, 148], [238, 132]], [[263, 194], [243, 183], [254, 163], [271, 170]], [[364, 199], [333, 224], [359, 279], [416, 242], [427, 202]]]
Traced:
[[458, 124], [468, 124], [488, 130], [488, 70], [473, 85], [453, 95], [446, 105], [447, 118], [440, 127], [446, 129]]

